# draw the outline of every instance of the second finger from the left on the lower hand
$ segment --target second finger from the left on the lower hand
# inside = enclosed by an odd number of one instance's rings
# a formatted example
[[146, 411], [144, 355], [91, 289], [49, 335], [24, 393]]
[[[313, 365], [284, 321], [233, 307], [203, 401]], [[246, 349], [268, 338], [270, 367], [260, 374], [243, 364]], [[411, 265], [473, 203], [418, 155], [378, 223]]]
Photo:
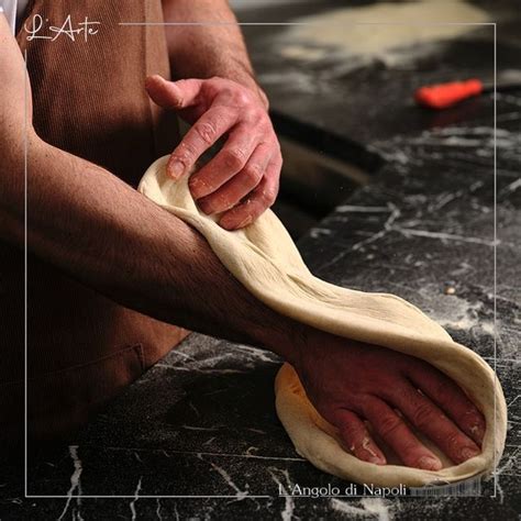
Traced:
[[363, 406], [365, 418], [401, 461], [415, 468], [440, 470], [442, 462], [409, 430], [403, 420], [383, 400], [372, 398]]

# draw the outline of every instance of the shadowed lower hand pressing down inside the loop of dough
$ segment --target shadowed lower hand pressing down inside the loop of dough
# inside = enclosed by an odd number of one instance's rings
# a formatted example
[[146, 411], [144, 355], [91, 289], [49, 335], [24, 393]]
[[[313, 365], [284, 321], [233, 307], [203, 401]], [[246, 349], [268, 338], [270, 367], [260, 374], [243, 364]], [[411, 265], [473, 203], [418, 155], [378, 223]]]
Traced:
[[365, 420], [411, 467], [439, 470], [442, 463], [408, 424], [456, 464], [480, 452], [483, 414], [452, 379], [419, 358], [317, 332], [296, 369], [317, 410], [359, 459], [386, 464]]

